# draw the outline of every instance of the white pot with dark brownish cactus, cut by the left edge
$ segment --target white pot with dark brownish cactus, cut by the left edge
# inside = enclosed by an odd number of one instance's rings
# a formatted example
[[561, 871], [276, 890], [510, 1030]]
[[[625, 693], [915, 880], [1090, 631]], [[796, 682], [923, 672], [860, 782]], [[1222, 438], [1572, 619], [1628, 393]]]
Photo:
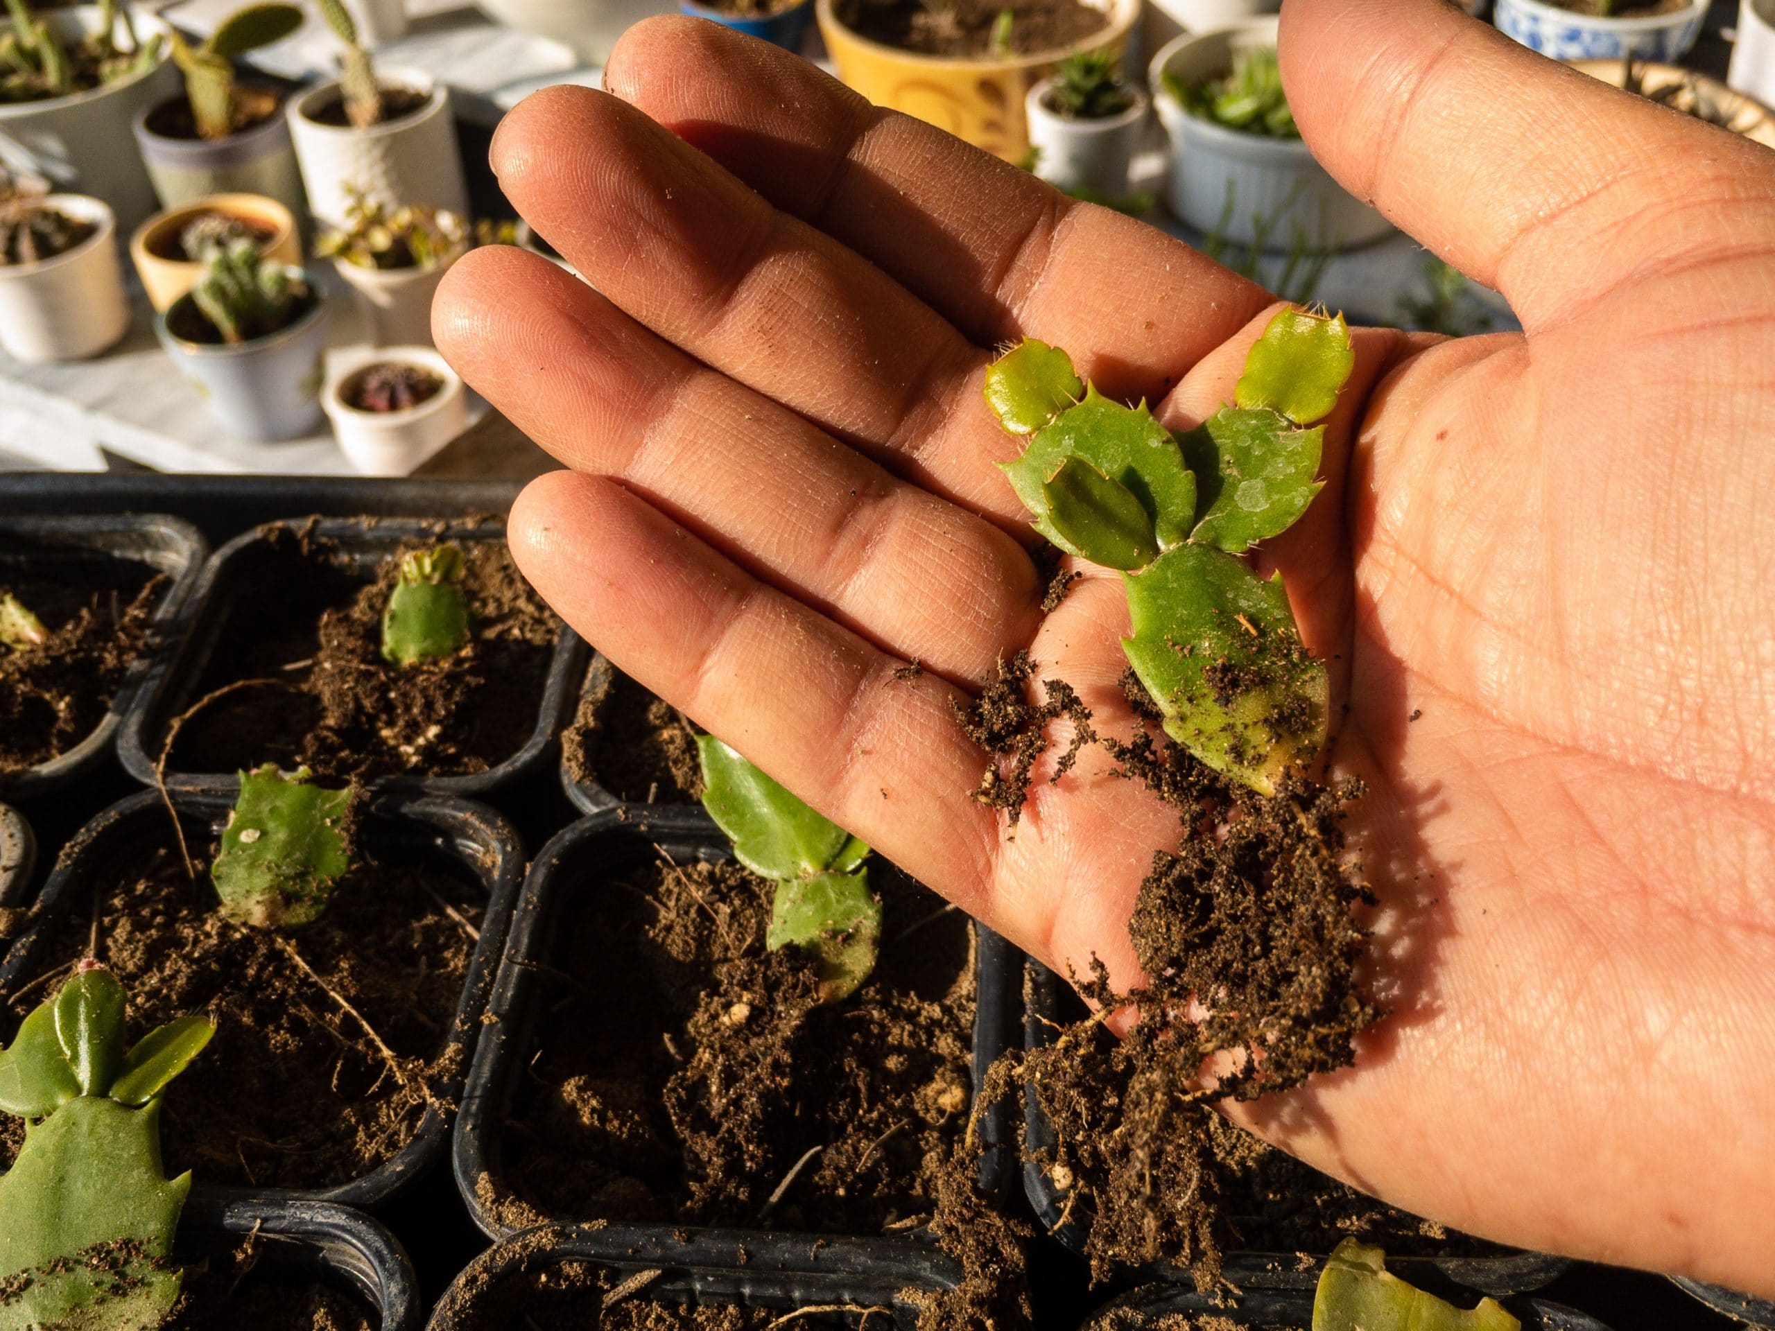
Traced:
[[85, 360], [130, 330], [112, 209], [78, 193], [44, 204], [98, 231], [53, 259], [0, 266], [0, 346], [27, 366]]

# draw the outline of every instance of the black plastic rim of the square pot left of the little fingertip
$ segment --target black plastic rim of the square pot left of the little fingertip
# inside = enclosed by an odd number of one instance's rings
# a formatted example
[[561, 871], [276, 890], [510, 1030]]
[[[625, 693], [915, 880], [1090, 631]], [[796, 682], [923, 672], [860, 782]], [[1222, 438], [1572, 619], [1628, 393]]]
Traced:
[[[305, 539], [325, 543], [330, 557], [337, 557], [353, 575], [366, 580], [375, 577], [383, 561], [414, 539], [467, 545], [497, 543], [506, 538], [504, 524], [492, 518], [479, 522], [465, 518], [447, 522], [289, 518], [236, 536], [204, 564], [192, 591], [192, 632], [186, 634], [176, 653], [156, 660], [137, 705], [124, 719], [119, 754], [137, 781], [154, 784], [163, 776], [170, 790], [234, 792], [240, 788], [238, 772], [185, 772], [169, 763], [169, 770], [158, 774], [156, 763], [172, 721], [201, 697], [199, 681], [220, 642], [231, 632], [236, 607], [264, 595], [254, 579], [279, 557], [272, 543], [273, 529], [300, 532]], [[495, 767], [460, 776], [390, 776], [371, 784], [387, 790], [469, 795], [472, 799], [486, 799], [506, 790], [548, 761], [561, 726], [572, 717], [579, 701], [577, 685], [584, 660], [586, 644], [572, 628], [561, 625], [548, 674], [536, 699], [536, 722], [522, 747]]]

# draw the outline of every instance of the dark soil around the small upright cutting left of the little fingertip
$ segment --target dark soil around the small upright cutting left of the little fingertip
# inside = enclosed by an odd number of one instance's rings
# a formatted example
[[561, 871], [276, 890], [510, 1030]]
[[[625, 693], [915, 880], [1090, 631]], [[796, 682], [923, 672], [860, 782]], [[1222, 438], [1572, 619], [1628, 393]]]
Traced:
[[288, 527], [266, 534], [263, 571], [231, 607], [195, 701], [169, 726], [178, 728], [170, 770], [272, 761], [335, 781], [454, 776], [485, 772], [524, 747], [561, 621], [504, 543], [460, 543], [474, 641], [456, 657], [403, 667], [382, 658], [382, 610], [399, 557], [366, 582], [320, 538]]

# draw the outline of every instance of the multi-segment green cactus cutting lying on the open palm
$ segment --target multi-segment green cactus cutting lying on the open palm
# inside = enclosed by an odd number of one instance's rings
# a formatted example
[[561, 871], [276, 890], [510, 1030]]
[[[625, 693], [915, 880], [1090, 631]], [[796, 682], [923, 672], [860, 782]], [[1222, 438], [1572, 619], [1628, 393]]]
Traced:
[[1234, 405], [1179, 437], [1145, 403], [1085, 383], [1056, 346], [1024, 341], [987, 371], [999, 422], [1030, 445], [1003, 463], [1035, 529], [1122, 570], [1129, 664], [1164, 729], [1209, 767], [1271, 795], [1326, 738], [1324, 664], [1301, 644], [1282, 577], [1241, 557], [1306, 511], [1324, 428], [1354, 366], [1342, 316], [1280, 312]]

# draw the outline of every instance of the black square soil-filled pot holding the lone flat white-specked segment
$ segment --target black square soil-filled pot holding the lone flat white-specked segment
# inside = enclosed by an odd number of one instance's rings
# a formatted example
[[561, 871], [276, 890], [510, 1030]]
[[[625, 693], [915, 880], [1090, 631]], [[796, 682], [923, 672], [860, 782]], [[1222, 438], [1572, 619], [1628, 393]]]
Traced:
[[[236, 933], [245, 930], [225, 925], [208, 909], [215, 898], [206, 855], [227, 822], [233, 800], [227, 795], [170, 799], [178, 829], [170, 822], [167, 797], [146, 790], [114, 804], [69, 841], [37, 893], [27, 928], [0, 962], [0, 999], [5, 1001], [0, 1015], [5, 1026], [4, 1040], [11, 1040], [12, 1026], [23, 1012], [28, 1012], [37, 992], [91, 948], [87, 932], [91, 919], [112, 923], [112, 932], [101, 930], [99, 960], [110, 964], [126, 987], [131, 985], [131, 971], [147, 962], [131, 960], [130, 942], [117, 944], [124, 948], [117, 951], [114, 939], [153, 941], [170, 933], [190, 939], [188, 944], [178, 946], [162, 942], [172, 951], [169, 957], [154, 951], [160, 960], [153, 965], [162, 971], [170, 965], [176, 973], [181, 951], [204, 955], [211, 969], [197, 973], [193, 983], [218, 994], [213, 1010], [222, 1029], [204, 1051], [204, 1059], [179, 1083], [178, 1100], [169, 1099], [162, 1125], [167, 1164], [174, 1170], [190, 1168], [206, 1193], [227, 1196], [250, 1193], [284, 1201], [380, 1207], [438, 1162], [447, 1150], [451, 1118], [462, 1102], [463, 1072], [481, 1038], [481, 1017], [524, 877], [524, 848], [518, 834], [492, 809], [449, 797], [382, 799], [366, 811], [362, 825], [366, 882], [383, 886], [390, 893], [389, 900], [419, 903], [410, 909], [426, 912], [430, 919], [426, 928], [431, 935], [456, 941], [456, 930], [462, 930], [470, 941], [460, 946], [472, 946], [462, 969], [460, 990], [453, 999], [437, 1003], [428, 1013], [426, 1026], [412, 1024], [412, 1017], [396, 1012], [399, 1020], [408, 1022], [408, 1031], [440, 1028], [437, 1044], [422, 1047], [424, 1036], [401, 1035], [399, 1028], [389, 1026], [389, 1015], [383, 1013], [380, 1020], [394, 1031], [392, 1040], [401, 1045], [396, 1056], [405, 1063], [373, 1067], [378, 1058], [385, 1059], [394, 1045], [378, 1047], [380, 1056], [350, 1054], [343, 1033], [357, 1033], [359, 1024], [367, 1024], [371, 1019], [362, 1015], [362, 997], [348, 1010], [337, 990], [323, 981], [327, 953], [314, 949], [334, 944], [318, 941], [314, 933], [318, 925], [268, 939], [257, 932], [240, 933], [254, 944], [245, 953], [233, 949], [236, 948], [233, 942], [222, 948], [204, 944], [202, 935], [211, 930], [211, 921], [225, 939], [236, 937], [229, 930]], [[185, 866], [179, 862], [183, 854], [193, 857], [195, 877], [190, 880], [190, 896], [185, 887]], [[163, 887], [153, 889], [154, 882]], [[405, 886], [414, 882], [419, 886]], [[373, 905], [369, 903], [369, 909]], [[341, 910], [337, 896], [332, 910]], [[121, 919], [135, 923], [126, 935], [115, 933]], [[373, 921], [373, 916], [364, 914], [362, 919]], [[412, 923], [415, 919], [417, 916], [403, 918], [387, 933], [389, 942], [346, 953], [337, 964], [344, 969], [399, 964], [408, 967], [403, 976], [410, 974], [415, 988], [424, 985], [426, 978], [414, 951], [419, 942], [403, 932], [419, 928]], [[364, 928], [375, 928], [375, 923], [366, 923]], [[259, 939], [264, 939], [263, 946]], [[153, 951], [154, 942], [146, 946]], [[351, 946], [357, 946], [355, 941]], [[288, 967], [277, 957], [279, 951], [291, 955]], [[309, 960], [311, 953], [318, 962]], [[250, 967], [254, 974], [250, 987], [241, 987], [238, 976], [213, 974], [213, 967], [229, 960]], [[254, 994], [275, 992], [268, 988], [277, 983], [273, 973], [282, 973], [291, 988], [270, 1006], [254, 1004]], [[165, 988], [165, 983], [170, 981], [158, 981], [160, 988]], [[311, 1059], [302, 1067], [293, 1051], [302, 1054], [318, 1051], [320, 1061]], [[359, 1063], [362, 1067], [357, 1067]], [[406, 1104], [398, 1111], [390, 1107], [380, 1118], [371, 1111], [355, 1113], [355, 1127], [346, 1122], [344, 1109], [339, 1109], [341, 1116], [327, 1123], [296, 1122], [286, 1113], [275, 1118], [282, 1127], [268, 1130], [275, 1109], [259, 1109], [272, 1106], [273, 1100], [286, 1109], [291, 1106], [300, 1109], [311, 1102], [350, 1109], [359, 1102], [369, 1102], [385, 1077], [403, 1081]], [[272, 1086], [277, 1088], [277, 1095], [272, 1093]], [[335, 1100], [323, 1100], [325, 1095]], [[390, 1090], [385, 1104], [392, 1106], [396, 1099]], [[186, 1120], [181, 1120], [181, 1104]], [[417, 1123], [412, 1120], [414, 1113], [419, 1113]], [[183, 1122], [193, 1125], [190, 1136], [181, 1136]], [[366, 1123], [382, 1125], [378, 1136], [364, 1138], [369, 1145], [359, 1155], [366, 1168], [350, 1177], [344, 1164], [337, 1170], [327, 1166], [332, 1175], [327, 1178], [314, 1171], [302, 1173], [307, 1168], [304, 1159], [320, 1145], [335, 1141], [341, 1132], [367, 1132]], [[218, 1139], [224, 1136], [233, 1139]], [[401, 1145], [394, 1145], [396, 1141]], [[367, 1164], [369, 1159], [376, 1162]], [[280, 1184], [279, 1177], [291, 1182]]]

